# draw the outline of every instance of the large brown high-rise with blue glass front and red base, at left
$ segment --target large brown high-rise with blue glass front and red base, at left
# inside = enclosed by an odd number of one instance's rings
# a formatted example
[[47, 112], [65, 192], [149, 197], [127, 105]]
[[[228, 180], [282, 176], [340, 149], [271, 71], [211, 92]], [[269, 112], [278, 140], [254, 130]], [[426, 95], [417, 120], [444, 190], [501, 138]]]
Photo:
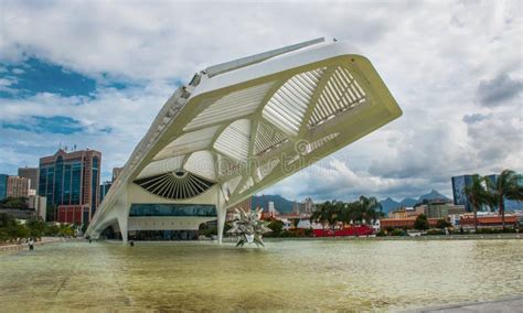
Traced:
[[41, 158], [39, 194], [47, 198], [47, 216], [89, 223], [99, 205], [100, 169], [102, 153], [89, 149]]

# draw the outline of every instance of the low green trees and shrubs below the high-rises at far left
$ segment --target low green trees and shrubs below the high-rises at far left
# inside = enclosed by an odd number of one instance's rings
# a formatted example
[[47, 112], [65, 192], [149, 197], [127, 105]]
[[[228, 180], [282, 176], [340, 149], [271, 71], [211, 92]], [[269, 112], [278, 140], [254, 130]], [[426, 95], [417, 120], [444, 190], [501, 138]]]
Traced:
[[43, 236], [70, 237], [74, 236], [74, 228], [75, 226], [66, 224], [46, 224], [35, 218], [21, 224], [13, 216], [0, 213], [0, 242], [18, 242], [26, 238], [40, 239]]

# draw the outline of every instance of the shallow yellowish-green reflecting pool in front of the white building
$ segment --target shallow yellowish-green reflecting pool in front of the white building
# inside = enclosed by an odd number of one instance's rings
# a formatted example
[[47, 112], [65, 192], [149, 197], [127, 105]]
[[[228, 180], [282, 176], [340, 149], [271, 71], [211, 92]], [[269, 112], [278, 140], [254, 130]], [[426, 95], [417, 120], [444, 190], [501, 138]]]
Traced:
[[0, 311], [402, 311], [523, 294], [523, 240], [67, 242], [0, 253]]

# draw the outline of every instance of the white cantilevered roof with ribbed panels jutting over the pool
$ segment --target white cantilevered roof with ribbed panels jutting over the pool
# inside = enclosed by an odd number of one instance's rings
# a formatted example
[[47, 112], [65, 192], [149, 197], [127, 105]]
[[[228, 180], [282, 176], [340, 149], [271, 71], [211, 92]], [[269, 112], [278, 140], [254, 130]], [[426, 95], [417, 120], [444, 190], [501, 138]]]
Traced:
[[218, 185], [233, 205], [401, 114], [357, 50], [314, 40], [196, 74], [164, 105], [116, 185], [173, 202], [198, 202]]

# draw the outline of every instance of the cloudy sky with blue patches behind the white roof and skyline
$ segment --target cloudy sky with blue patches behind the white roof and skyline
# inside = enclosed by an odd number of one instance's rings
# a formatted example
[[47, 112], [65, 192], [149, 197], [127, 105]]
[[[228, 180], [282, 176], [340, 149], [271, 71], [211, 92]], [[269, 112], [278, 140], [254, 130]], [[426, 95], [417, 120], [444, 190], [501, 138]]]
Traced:
[[523, 171], [521, 1], [0, 0], [0, 173], [62, 147], [120, 166], [206, 66], [325, 36], [373, 62], [404, 115], [266, 193], [450, 196], [450, 176]]

